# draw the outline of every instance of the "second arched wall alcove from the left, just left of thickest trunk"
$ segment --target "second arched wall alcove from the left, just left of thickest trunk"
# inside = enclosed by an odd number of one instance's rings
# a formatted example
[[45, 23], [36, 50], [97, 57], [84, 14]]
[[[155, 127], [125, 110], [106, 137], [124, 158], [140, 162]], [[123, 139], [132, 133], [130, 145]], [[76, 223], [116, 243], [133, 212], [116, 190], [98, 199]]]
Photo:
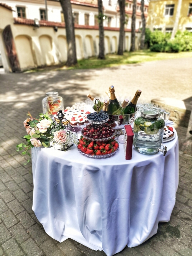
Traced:
[[52, 38], [49, 35], [41, 35], [39, 37], [41, 54], [42, 54], [42, 64], [51, 65], [54, 63], [54, 58], [52, 54]]

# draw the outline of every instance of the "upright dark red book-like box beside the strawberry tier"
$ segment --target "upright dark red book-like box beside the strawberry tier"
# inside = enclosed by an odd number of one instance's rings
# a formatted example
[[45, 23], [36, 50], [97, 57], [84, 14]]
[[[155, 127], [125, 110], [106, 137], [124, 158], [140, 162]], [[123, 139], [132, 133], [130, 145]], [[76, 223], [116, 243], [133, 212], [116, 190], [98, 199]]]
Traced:
[[133, 142], [133, 132], [131, 125], [125, 125], [124, 132], [124, 153], [125, 159], [130, 160], [132, 158], [132, 142]]

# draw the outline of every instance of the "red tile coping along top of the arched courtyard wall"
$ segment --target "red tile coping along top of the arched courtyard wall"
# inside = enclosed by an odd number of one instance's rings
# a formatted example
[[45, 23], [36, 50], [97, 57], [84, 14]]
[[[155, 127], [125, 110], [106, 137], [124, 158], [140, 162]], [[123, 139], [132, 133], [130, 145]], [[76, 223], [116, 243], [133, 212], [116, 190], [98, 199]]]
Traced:
[[[21, 25], [29, 25], [33, 26], [34, 25], [34, 20], [30, 19], [22, 19], [22, 18], [14, 18], [14, 23], [15, 24], [21, 24]], [[64, 22], [50, 22], [47, 20], [39, 20], [40, 27], [58, 27], [58, 28], [65, 28], [65, 23]], [[93, 30], [98, 30], [98, 26], [88, 26], [88, 25], [78, 25], [75, 24], [74, 28], [79, 28], [79, 29], [93, 29]], [[119, 31], [119, 28], [113, 28], [113, 27], [104, 27], [104, 30], [112, 30], [112, 31]], [[131, 29], [125, 29], [126, 32], [131, 32]], [[139, 32], [136, 30], [136, 32]]]

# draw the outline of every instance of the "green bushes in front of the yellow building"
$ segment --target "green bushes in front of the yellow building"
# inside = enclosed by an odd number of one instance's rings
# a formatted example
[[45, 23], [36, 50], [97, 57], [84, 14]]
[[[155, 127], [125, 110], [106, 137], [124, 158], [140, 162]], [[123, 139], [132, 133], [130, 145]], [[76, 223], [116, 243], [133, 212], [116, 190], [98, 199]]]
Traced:
[[177, 31], [175, 38], [170, 39], [171, 33], [162, 33], [155, 30], [146, 32], [146, 43], [151, 52], [178, 53], [192, 51], [192, 33], [187, 30]]

